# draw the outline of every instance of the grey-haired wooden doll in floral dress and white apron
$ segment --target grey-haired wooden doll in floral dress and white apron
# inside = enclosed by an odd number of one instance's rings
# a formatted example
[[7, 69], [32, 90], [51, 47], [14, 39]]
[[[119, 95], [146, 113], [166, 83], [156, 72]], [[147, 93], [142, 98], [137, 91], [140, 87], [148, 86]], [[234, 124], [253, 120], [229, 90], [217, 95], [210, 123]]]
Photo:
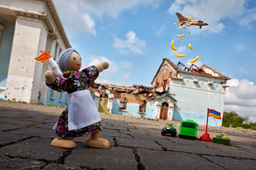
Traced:
[[75, 148], [75, 142], [67, 140], [68, 138], [91, 134], [91, 137], [85, 140], [85, 145], [95, 148], [109, 148], [109, 141], [99, 138], [102, 130], [101, 119], [88, 91], [88, 87], [100, 72], [109, 67], [109, 63], [104, 61], [79, 71], [82, 60], [73, 48], [63, 51], [56, 63], [63, 72], [63, 76], [56, 78], [52, 71], [45, 72], [46, 85], [58, 92], [68, 92], [70, 101], [53, 127], [56, 128], [57, 138], [51, 142], [51, 145]]

